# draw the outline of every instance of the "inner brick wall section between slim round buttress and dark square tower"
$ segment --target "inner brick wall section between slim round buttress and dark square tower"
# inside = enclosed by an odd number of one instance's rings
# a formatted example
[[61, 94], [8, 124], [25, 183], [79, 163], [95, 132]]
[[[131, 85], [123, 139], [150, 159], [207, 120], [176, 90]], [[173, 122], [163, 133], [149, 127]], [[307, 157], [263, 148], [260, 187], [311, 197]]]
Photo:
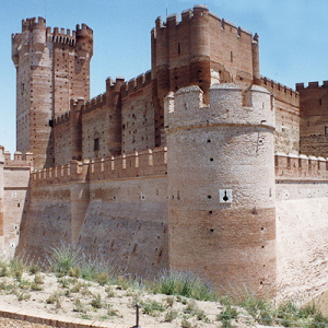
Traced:
[[126, 83], [121, 89], [121, 99], [122, 152], [153, 149], [159, 127], [152, 103], [151, 72]]

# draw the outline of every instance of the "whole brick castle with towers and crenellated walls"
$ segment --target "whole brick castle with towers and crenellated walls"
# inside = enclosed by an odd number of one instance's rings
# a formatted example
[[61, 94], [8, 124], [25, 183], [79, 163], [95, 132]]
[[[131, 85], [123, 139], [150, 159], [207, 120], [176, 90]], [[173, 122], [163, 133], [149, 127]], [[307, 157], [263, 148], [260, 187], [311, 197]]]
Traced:
[[133, 274], [218, 288], [328, 286], [328, 82], [260, 75], [259, 38], [195, 5], [151, 33], [151, 71], [90, 99], [93, 31], [12, 35], [14, 160], [0, 148], [0, 248], [77, 243]]

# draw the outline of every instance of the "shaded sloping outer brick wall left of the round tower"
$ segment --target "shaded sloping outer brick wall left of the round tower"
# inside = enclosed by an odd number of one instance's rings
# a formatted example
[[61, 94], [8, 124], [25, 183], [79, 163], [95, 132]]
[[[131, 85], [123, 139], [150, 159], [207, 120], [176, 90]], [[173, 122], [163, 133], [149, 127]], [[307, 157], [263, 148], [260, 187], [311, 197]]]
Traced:
[[34, 172], [17, 254], [77, 242], [126, 272], [168, 267], [166, 149]]

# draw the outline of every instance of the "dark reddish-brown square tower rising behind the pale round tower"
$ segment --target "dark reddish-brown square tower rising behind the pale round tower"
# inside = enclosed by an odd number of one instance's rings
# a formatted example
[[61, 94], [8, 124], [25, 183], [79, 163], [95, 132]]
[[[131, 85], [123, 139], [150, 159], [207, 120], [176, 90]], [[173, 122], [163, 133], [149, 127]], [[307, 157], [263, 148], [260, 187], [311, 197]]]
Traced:
[[155, 145], [163, 143], [164, 97], [169, 91], [198, 85], [204, 102], [214, 83], [247, 87], [259, 84], [258, 35], [211, 13], [207, 5], [156, 19], [152, 30], [152, 81]]

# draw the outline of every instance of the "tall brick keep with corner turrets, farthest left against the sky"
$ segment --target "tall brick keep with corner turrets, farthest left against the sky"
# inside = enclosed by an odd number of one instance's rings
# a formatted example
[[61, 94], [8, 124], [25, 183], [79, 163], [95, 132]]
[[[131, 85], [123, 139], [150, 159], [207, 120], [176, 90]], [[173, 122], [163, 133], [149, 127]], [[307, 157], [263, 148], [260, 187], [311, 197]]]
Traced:
[[16, 150], [34, 153], [35, 167], [54, 164], [51, 120], [68, 112], [70, 98], [90, 98], [93, 32], [46, 27], [43, 17], [22, 21], [12, 35], [16, 68]]

